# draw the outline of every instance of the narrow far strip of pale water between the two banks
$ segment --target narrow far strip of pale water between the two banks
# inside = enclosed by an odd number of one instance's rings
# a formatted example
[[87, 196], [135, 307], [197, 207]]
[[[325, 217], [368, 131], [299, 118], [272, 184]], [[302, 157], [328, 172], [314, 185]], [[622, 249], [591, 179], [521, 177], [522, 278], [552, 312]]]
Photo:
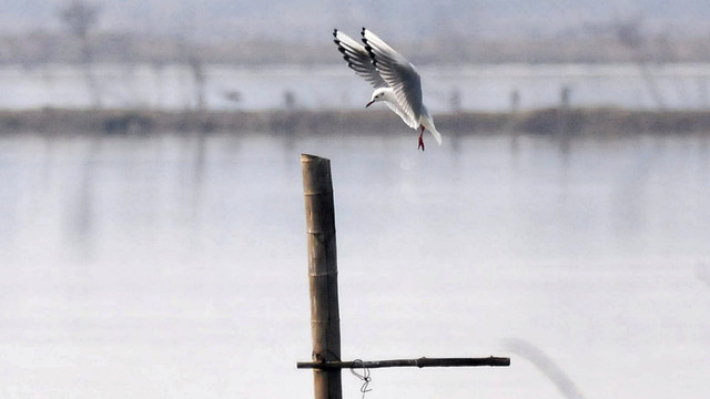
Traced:
[[[508, 111], [557, 106], [710, 108], [710, 64], [422, 65], [430, 111]], [[98, 64], [0, 68], [0, 109], [87, 108], [211, 110], [357, 109], [369, 85], [344, 64], [204, 65]], [[202, 100], [200, 100], [202, 99]]]

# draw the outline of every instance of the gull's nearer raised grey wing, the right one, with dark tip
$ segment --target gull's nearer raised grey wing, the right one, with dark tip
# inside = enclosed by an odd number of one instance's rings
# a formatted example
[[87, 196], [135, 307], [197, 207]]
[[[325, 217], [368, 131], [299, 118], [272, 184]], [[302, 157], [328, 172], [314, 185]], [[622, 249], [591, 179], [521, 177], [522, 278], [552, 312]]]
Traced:
[[422, 81], [419, 73], [407, 59], [402, 57], [375, 33], [363, 28], [363, 42], [379, 76], [389, 85], [405, 112], [413, 121], [418, 121], [422, 108]]

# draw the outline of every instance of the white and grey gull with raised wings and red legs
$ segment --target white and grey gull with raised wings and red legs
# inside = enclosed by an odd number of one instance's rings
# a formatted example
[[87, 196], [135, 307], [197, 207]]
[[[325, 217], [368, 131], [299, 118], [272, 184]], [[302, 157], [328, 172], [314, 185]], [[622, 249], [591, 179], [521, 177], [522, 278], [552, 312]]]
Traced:
[[419, 131], [418, 149], [424, 151], [424, 131], [428, 130], [439, 145], [442, 135], [434, 126], [434, 120], [422, 102], [422, 79], [416, 68], [379, 39], [363, 28], [363, 44], [335, 29], [334, 42], [355, 73], [375, 88], [365, 108], [383, 101], [404, 123]]

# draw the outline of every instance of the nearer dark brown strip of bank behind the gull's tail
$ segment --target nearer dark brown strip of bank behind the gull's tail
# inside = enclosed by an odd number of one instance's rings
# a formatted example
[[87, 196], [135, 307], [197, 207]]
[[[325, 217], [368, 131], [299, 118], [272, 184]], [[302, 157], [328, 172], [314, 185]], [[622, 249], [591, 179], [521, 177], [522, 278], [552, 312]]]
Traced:
[[[463, 112], [435, 115], [442, 132], [627, 135], [710, 133], [710, 111], [635, 111], [623, 109], [542, 109], [517, 113]], [[0, 134], [150, 134], [153, 132], [268, 132], [328, 134], [357, 131], [379, 134], [408, 130], [387, 111], [199, 112], [146, 110], [0, 111]]]

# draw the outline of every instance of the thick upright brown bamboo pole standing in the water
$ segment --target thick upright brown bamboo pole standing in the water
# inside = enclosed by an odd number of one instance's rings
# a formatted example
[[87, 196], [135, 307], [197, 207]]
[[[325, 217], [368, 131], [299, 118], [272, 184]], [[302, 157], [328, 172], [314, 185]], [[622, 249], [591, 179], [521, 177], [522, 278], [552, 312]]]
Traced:
[[[341, 360], [341, 320], [337, 297], [335, 205], [331, 161], [301, 155], [308, 237], [312, 359], [315, 364]], [[342, 399], [339, 369], [313, 370], [315, 399]]]

